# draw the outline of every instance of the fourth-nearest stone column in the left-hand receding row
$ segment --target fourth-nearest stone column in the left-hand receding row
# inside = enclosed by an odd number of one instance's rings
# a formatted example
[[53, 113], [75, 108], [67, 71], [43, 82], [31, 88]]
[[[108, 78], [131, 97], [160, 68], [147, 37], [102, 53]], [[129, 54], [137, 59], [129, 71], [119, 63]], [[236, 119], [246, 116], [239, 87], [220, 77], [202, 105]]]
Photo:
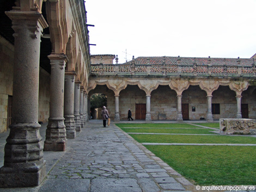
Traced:
[[80, 121], [80, 82], [75, 82], [74, 91], [74, 116], [75, 116], [75, 126], [76, 131], [81, 131], [81, 121]]

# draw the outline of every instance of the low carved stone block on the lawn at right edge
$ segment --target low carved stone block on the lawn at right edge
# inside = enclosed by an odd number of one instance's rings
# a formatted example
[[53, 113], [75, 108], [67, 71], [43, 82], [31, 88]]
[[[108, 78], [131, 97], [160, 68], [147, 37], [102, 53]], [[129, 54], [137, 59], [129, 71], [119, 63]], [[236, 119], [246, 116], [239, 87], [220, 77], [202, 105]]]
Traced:
[[255, 119], [220, 119], [220, 134], [256, 134]]

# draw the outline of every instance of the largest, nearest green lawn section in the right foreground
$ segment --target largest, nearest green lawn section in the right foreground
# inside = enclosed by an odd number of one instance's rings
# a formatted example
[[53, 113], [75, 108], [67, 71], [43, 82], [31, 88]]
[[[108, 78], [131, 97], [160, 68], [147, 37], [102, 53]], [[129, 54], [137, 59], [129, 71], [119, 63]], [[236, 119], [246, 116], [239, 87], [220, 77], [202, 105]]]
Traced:
[[182, 176], [199, 185], [255, 185], [255, 146], [147, 145]]

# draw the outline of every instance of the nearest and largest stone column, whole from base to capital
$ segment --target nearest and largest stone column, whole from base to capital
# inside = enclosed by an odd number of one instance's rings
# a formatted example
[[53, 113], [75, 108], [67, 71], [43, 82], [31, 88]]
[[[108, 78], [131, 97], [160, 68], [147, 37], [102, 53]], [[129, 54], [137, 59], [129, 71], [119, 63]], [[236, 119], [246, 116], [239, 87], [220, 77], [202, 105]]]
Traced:
[[34, 187], [46, 176], [38, 92], [40, 36], [47, 23], [37, 11], [16, 9], [6, 14], [13, 21], [15, 32], [13, 122], [4, 147], [0, 187]]

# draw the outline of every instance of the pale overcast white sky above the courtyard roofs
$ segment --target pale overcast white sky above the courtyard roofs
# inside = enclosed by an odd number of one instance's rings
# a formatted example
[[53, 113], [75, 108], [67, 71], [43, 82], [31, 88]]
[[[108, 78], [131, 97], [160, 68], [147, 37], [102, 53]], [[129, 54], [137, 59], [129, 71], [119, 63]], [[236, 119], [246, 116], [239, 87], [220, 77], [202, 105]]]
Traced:
[[[91, 54], [251, 58], [256, 0], [86, 0]], [[127, 54], [125, 53], [127, 52]], [[115, 62], [114, 62], [115, 63]]]

